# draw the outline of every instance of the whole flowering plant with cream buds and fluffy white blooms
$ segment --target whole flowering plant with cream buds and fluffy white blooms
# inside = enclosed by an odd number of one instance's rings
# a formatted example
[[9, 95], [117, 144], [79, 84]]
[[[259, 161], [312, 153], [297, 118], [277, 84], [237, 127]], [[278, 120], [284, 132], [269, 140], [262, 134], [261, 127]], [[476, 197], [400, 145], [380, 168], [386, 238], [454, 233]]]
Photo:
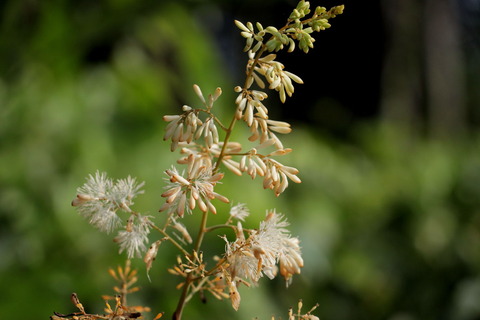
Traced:
[[[329, 19], [342, 12], [343, 6], [330, 10], [317, 7], [312, 11], [310, 3], [301, 0], [280, 29], [272, 26], [264, 28], [258, 22], [254, 25], [235, 21], [246, 39], [244, 50], [248, 61], [244, 84], [234, 88], [238, 96], [230, 123], [225, 125], [214, 113], [214, 105], [222, 89], [217, 88], [213, 94], [204, 96], [198, 85], [193, 86], [199, 99], [198, 106], [184, 105], [181, 114], [163, 117], [168, 122], [164, 140], [170, 141], [172, 152], [180, 150], [177, 165], [165, 171], [167, 184], [161, 194], [165, 202], [159, 210], [164, 214], [163, 224], [157, 224], [151, 216], [133, 209], [134, 200], [143, 193], [144, 185], [135, 178], [114, 181], [106, 173], [96, 172], [78, 188], [72, 205], [100, 231], [111, 233], [118, 230], [114, 240], [120, 253], [125, 251], [128, 259], [143, 257], [147, 276], [162, 243], [170, 242], [178, 249], [180, 256], [169, 270], [181, 279], [178, 286], [181, 294], [173, 312], [174, 319], [182, 318], [186, 303], [196, 293], [210, 292], [218, 299], [228, 299], [237, 310], [241, 300], [238, 286], [256, 285], [263, 276], [273, 279], [277, 275], [281, 275], [288, 286], [293, 275], [301, 272], [300, 241], [288, 231], [288, 222], [283, 214], [275, 209], [267, 210], [257, 229], [246, 229], [242, 222], [249, 217], [247, 206], [237, 204], [231, 206], [228, 214], [218, 212], [218, 201], [231, 201], [215, 190], [224, 177], [221, 170], [239, 176], [246, 174], [252, 179], [261, 177], [263, 187], [272, 190], [276, 196], [285, 191], [290, 181], [301, 182], [296, 168], [278, 160], [292, 152], [292, 149], [284, 147], [278, 134], [288, 134], [292, 129], [287, 122], [269, 118], [265, 105], [268, 95], [264, 90], [268, 87], [276, 91], [281, 102], [292, 96], [294, 83], [302, 84], [303, 81], [286, 71], [274, 52], [285, 48], [292, 52], [298, 47], [307, 53], [315, 41], [312, 33], [329, 28]], [[248, 140], [253, 147], [244, 149], [241, 142], [231, 140], [237, 122], [243, 122], [249, 128], [251, 135]], [[196, 218], [197, 212], [201, 217], [193, 239], [182, 219], [187, 216]], [[208, 225], [210, 214], [225, 215], [226, 222]], [[235, 238], [222, 236], [225, 252], [220, 257], [204, 257], [202, 246], [205, 236], [223, 228], [233, 230]], [[159, 237], [150, 240], [151, 231], [158, 232]], [[112, 276], [130, 284], [129, 272], [127, 263], [121, 276]], [[136, 277], [132, 279], [136, 281]], [[107, 303], [110, 312], [103, 316], [87, 314], [76, 295], [72, 296], [72, 301], [80, 310], [72, 319], [133, 319], [141, 316], [138, 308], [126, 306], [124, 297], [128, 290], [117, 293], [122, 298], [116, 298], [115, 310]], [[297, 314], [290, 311], [289, 318], [316, 318], [310, 312], [302, 315], [300, 309], [301, 305]], [[69, 316], [56, 314], [53, 317], [68, 319]]]

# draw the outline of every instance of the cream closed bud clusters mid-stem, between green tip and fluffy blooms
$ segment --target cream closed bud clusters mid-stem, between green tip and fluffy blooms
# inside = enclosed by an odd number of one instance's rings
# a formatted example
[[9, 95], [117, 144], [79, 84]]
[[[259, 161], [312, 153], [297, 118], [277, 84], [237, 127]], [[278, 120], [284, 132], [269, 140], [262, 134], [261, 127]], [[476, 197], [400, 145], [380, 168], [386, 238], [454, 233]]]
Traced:
[[[283, 65], [273, 61], [274, 55], [269, 55], [262, 60], [260, 74], [264, 75], [267, 81], [271, 82], [272, 89], [286, 92], [288, 95], [293, 93], [291, 89], [291, 81], [301, 82], [297, 76], [283, 71]], [[250, 59], [253, 61], [253, 57]], [[252, 64], [252, 63], [250, 63]], [[274, 66], [269, 70], [269, 66]], [[276, 70], [278, 69], [278, 70]], [[253, 69], [252, 69], [253, 70]], [[263, 71], [262, 71], [263, 70]], [[259, 76], [252, 72], [257, 79], [261, 81]], [[254, 76], [249, 77], [254, 79]], [[250, 83], [251, 85], [252, 83]], [[288, 186], [287, 177], [292, 181], [299, 183], [300, 179], [296, 176], [298, 170], [283, 166], [272, 157], [285, 155], [291, 149], [284, 148], [277, 134], [286, 134], [291, 132], [290, 124], [283, 121], [271, 120], [268, 118], [268, 109], [262, 103], [267, 98], [267, 94], [263, 91], [243, 89], [239, 86], [235, 87], [235, 91], [239, 93], [236, 99], [237, 111], [235, 119], [243, 119], [250, 127], [250, 141], [259, 141], [256, 148], [251, 149], [247, 153], [242, 153], [242, 145], [233, 141], [220, 141], [217, 125], [222, 130], [227, 131], [221, 122], [211, 113], [213, 103], [218, 99], [221, 90], [217, 88], [215, 94], [209, 95], [206, 100], [198, 85], [194, 85], [194, 91], [202, 101], [204, 108], [194, 109], [190, 106], [183, 106], [184, 111], [181, 115], [164, 116], [164, 120], [169, 122], [165, 129], [164, 140], [171, 140], [171, 150], [181, 147], [182, 158], [177, 162], [187, 165], [187, 177], [183, 178], [176, 169], [167, 170], [170, 185], [168, 190], [162, 194], [166, 198], [166, 203], [160, 211], [176, 211], [179, 216], [183, 216], [185, 210], [191, 212], [197, 205], [201, 211], [216, 212], [215, 207], [210, 200], [218, 198], [224, 201], [224, 197], [220, 197], [213, 192], [213, 186], [220, 180], [223, 175], [218, 175], [218, 162], [237, 175], [247, 173], [252, 178], [257, 175], [264, 177], [264, 187], [274, 190], [276, 195], [281, 194]], [[205, 113], [206, 119], [200, 119], [200, 113]], [[200, 140], [203, 138], [203, 143]], [[257, 150], [265, 149], [270, 146], [275, 147], [274, 152], [262, 155]], [[240, 160], [235, 157], [242, 156]], [[221, 160], [219, 160], [221, 159]], [[284, 173], [287, 171], [287, 173]], [[211, 180], [214, 176], [215, 178]], [[198, 190], [197, 187], [207, 188]], [[181, 192], [180, 192], [181, 191]], [[188, 197], [188, 198], [187, 198]], [[224, 201], [225, 202], [225, 201]]]

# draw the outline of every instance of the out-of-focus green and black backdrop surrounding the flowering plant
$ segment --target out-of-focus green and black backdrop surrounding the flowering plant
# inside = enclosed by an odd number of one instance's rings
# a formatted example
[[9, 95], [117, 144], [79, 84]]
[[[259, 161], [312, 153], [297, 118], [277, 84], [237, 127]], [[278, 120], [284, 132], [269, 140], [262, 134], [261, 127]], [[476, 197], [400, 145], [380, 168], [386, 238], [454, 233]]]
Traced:
[[[285, 213], [305, 268], [288, 289], [281, 279], [242, 288], [238, 312], [194, 299], [186, 319], [285, 319], [300, 298], [325, 320], [480, 319], [480, 1], [312, 3], [338, 4], [345, 13], [314, 50], [279, 55], [305, 84], [284, 105], [268, 100], [272, 118], [294, 126], [285, 161], [303, 183], [278, 199], [249, 178], [221, 186], [248, 203], [252, 227], [266, 209]], [[195, 105], [197, 83], [223, 88], [217, 111], [230, 117], [246, 62], [233, 19], [281, 26], [295, 5], [0, 2], [0, 319], [73, 312], [72, 292], [102, 312], [106, 271], [125, 256], [70, 206], [76, 188], [97, 169], [135, 176], [146, 182], [136, 208], [161, 221], [163, 171], [177, 157], [162, 115]], [[207, 240], [207, 254], [222, 252]], [[133, 304], [170, 317], [175, 255], [161, 247], [151, 283], [133, 261]]]

